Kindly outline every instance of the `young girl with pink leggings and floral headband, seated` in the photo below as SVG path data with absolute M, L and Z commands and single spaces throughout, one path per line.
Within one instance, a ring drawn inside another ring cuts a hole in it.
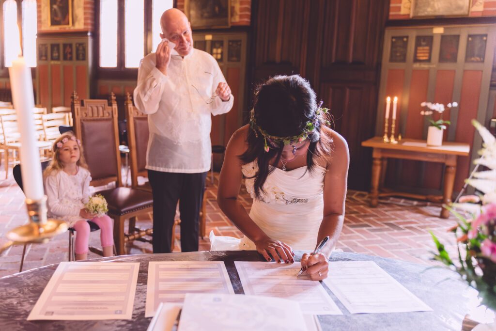
M 76 230 L 76 260 L 85 260 L 88 256 L 90 226 L 87 220 L 100 227 L 103 256 L 112 256 L 112 219 L 107 215 L 97 217 L 84 207 L 90 197 L 91 175 L 81 142 L 72 132 L 66 132 L 55 140 L 52 149 L 52 162 L 44 172 L 49 217 L 62 219 Z

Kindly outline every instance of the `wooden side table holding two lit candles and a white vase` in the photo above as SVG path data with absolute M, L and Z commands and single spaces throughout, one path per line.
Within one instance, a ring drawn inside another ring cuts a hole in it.
M 404 139 L 397 144 L 385 143 L 382 137 L 373 137 L 363 141 L 362 146 L 372 147 L 372 183 L 370 205 L 376 207 L 379 197 L 400 196 L 413 199 L 431 200 L 442 203 L 451 202 L 453 185 L 456 174 L 457 156 L 469 156 L 470 146 L 461 142 L 443 142 L 441 146 L 427 146 L 425 140 Z M 432 197 L 404 192 L 379 193 L 384 179 L 384 172 L 388 158 L 403 160 L 427 161 L 444 163 L 444 185 L 442 196 Z M 441 218 L 448 218 L 449 211 L 441 209 Z

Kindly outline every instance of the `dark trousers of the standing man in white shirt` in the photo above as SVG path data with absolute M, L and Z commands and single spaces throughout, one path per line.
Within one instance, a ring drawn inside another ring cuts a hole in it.
M 153 253 L 171 253 L 172 226 L 179 200 L 181 251 L 198 251 L 198 219 L 207 173 L 148 170 L 153 195 Z

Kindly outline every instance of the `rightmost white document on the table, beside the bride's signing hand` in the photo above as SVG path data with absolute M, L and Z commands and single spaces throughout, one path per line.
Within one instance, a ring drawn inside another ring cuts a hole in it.
M 324 283 L 352 314 L 432 311 L 373 261 L 330 262 Z

